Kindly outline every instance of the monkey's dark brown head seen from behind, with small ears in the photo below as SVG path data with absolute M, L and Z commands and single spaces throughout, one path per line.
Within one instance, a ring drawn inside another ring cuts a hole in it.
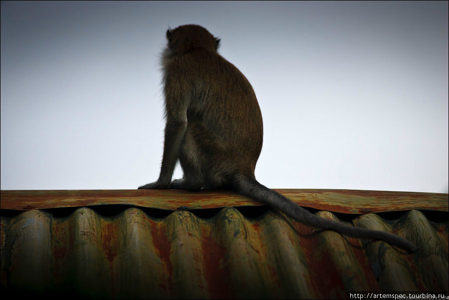
M 200 25 L 182 25 L 167 30 L 167 49 L 170 56 L 185 53 L 192 48 L 205 48 L 217 51 L 220 39 Z

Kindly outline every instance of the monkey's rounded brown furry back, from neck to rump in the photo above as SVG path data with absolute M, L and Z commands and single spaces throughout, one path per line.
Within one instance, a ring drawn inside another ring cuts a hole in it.
M 199 161 L 211 176 L 254 176 L 263 125 L 254 90 L 245 76 L 217 52 L 193 48 L 166 68 L 165 90 L 176 85 L 189 87 L 184 95 L 188 106 L 183 141 L 189 153 L 184 156 Z M 166 109 L 173 108 L 168 104 Z M 192 157 L 192 148 L 197 149 L 196 157 Z

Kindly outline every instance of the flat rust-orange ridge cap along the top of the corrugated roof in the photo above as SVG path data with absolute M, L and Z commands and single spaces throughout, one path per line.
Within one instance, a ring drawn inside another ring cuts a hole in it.
M 277 189 L 297 204 L 345 214 L 408 211 L 448 211 L 448 194 L 359 190 Z M 165 210 L 262 205 L 229 191 L 184 190 L 60 190 L 1 191 L 1 209 L 31 210 L 126 204 Z

